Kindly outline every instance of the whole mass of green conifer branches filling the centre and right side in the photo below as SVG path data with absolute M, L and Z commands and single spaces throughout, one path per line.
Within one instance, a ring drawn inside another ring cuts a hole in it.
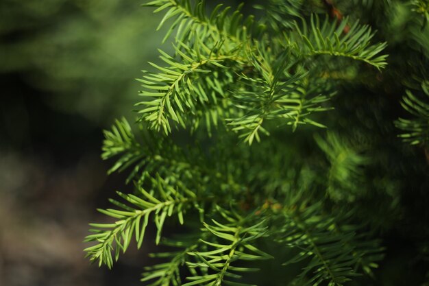
M 172 48 L 138 79 L 136 128 L 121 119 L 105 132 L 102 157 L 116 160 L 110 173 L 129 173 L 128 191 L 99 209 L 109 223 L 90 224 L 91 261 L 112 267 L 132 241 L 149 244 L 153 225 L 156 244 L 175 251 L 152 254 L 164 262 L 145 266 L 145 285 L 372 285 L 382 233 L 405 207 L 397 180 L 410 176 L 389 154 L 412 150 L 400 138 L 428 148 L 429 86 L 425 67 L 394 82 L 417 88 L 402 88 L 406 119 L 387 119 L 380 93 L 397 76 L 387 60 L 399 56 L 387 55 L 389 25 L 378 34 L 357 11 L 387 19 L 400 7 L 417 31 L 429 4 L 259 2 L 145 3 L 162 13 Z M 263 261 L 288 271 L 258 278 Z

